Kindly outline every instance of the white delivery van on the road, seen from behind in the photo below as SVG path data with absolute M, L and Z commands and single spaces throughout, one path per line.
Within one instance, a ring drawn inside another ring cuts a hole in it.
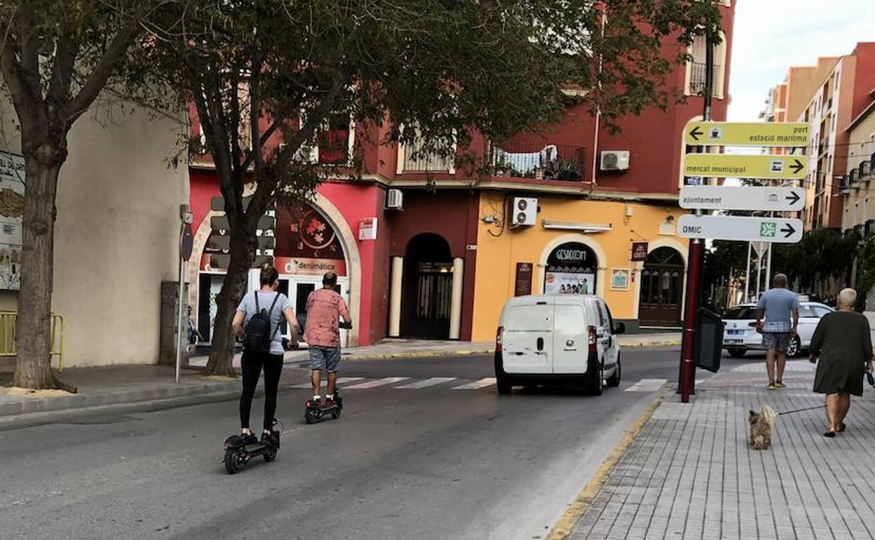
M 500 394 L 514 385 L 583 384 L 600 395 L 620 385 L 620 345 L 605 300 L 592 295 L 521 296 L 507 300 L 495 339 Z

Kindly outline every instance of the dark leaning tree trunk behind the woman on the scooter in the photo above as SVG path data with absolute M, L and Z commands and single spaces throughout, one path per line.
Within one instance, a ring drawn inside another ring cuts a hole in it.
M 230 221 L 230 220 L 229 220 Z M 234 347 L 235 338 L 231 328 L 237 305 L 240 304 L 246 291 L 246 280 L 249 268 L 255 261 L 257 239 L 255 228 L 249 231 L 243 220 L 231 224 L 231 263 L 228 273 L 221 284 L 221 291 L 216 296 L 216 319 L 213 326 L 213 340 L 210 348 L 210 360 L 207 362 L 208 375 L 235 375 Z

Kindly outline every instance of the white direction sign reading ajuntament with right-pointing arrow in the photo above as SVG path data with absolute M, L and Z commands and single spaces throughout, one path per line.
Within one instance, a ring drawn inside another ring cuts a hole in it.
M 805 207 L 801 187 L 683 186 L 681 207 L 690 210 L 772 210 L 799 212 Z

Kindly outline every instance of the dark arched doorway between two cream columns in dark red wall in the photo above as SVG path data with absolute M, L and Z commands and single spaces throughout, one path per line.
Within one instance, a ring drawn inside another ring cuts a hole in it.
M 452 254 L 441 235 L 410 239 L 404 256 L 401 333 L 405 337 L 450 337 Z

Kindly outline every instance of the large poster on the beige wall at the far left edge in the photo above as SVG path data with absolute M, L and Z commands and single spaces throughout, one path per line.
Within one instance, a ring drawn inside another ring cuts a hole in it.
M 21 284 L 21 218 L 25 212 L 25 157 L 0 151 L 0 289 Z

